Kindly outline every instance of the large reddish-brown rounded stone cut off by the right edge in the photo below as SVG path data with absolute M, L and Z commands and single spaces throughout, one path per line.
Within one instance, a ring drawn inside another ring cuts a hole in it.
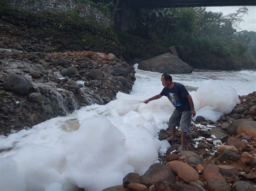
M 241 133 L 256 137 L 256 122 L 249 120 L 240 122 L 237 126 L 237 135 L 241 135 Z

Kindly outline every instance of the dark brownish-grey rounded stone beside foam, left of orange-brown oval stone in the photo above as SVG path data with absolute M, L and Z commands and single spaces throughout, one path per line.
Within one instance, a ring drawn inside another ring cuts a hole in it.
M 141 179 L 147 187 L 162 181 L 176 182 L 176 177 L 169 167 L 164 164 L 153 164 L 147 169 Z

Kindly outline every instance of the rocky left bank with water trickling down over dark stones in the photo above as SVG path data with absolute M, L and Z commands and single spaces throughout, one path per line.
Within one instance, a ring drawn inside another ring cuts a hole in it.
M 134 69 L 113 54 L 0 49 L 0 134 L 129 93 Z

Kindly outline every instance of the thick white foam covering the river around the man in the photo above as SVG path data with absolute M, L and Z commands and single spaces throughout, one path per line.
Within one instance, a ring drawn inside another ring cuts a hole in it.
M 211 120 L 233 109 L 237 92 L 255 90 L 252 71 L 172 76 L 199 87 L 191 92 L 197 114 Z M 169 147 L 157 132 L 167 129 L 174 108 L 166 97 L 143 103 L 160 93 L 161 74 L 136 70 L 136 77 L 130 95 L 0 136 L 0 190 L 101 190 L 121 185 L 129 172 L 142 175 Z

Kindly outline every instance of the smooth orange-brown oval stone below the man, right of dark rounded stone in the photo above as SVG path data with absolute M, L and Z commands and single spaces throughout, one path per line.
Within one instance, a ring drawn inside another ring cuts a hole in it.
M 173 172 L 177 173 L 179 178 L 186 183 L 199 179 L 199 174 L 196 169 L 192 168 L 188 164 L 185 164 L 184 162 L 174 160 L 168 162 L 167 166 L 169 166 Z

